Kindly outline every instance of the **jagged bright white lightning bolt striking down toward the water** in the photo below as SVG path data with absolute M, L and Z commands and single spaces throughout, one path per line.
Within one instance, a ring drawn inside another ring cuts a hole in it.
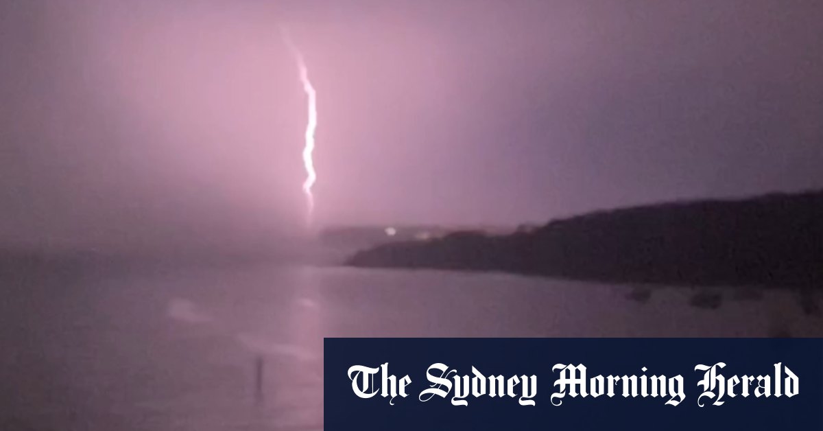
M 308 121 L 305 129 L 305 143 L 303 147 L 303 166 L 306 171 L 306 179 L 303 182 L 303 193 L 306 196 L 306 204 L 308 206 L 308 222 L 311 223 L 312 214 L 314 213 L 314 194 L 311 188 L 317 182 L 317 171 L 314 171 L 314 130 L 317 129 L 317 91 L 309 81 L 309 69 L 306 68 L 305 60 L 300 49 L 291 40 L 286 27 L 281 26 L 280 32 L 283 40 L 288 45 L 291 54 L 295 57 L 297 68 L 299 71 L 300 82 L 303 84 L 303 91 L 306 93 L 308 99 Z

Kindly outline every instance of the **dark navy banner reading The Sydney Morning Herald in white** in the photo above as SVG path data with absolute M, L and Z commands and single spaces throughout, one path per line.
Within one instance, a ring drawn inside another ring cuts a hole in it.
M 823 429 L 821 339 L 326 339 L 330 431 Z

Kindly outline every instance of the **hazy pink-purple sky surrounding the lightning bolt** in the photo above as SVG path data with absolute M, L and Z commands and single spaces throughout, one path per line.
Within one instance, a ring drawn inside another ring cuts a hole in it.
M 243 242 L 823 186 L 823 3 L 0 3 L 0 241 Z

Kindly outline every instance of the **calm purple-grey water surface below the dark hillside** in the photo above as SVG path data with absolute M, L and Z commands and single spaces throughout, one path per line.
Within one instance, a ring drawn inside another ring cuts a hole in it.
M 324 336 L 823 335 L 787 291 L 705 309 L 689 288 L 644 302 L 625 286 L 299 265 L 2 283 L 3 430 L 323 429 Z

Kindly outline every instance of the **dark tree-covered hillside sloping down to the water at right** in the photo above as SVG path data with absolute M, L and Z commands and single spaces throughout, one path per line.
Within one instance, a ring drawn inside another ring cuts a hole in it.
M 348 263 L 620 283 L 821 286 L 823 192 L 621 208 L 506 236 L 458 232 L 376 246 Z

